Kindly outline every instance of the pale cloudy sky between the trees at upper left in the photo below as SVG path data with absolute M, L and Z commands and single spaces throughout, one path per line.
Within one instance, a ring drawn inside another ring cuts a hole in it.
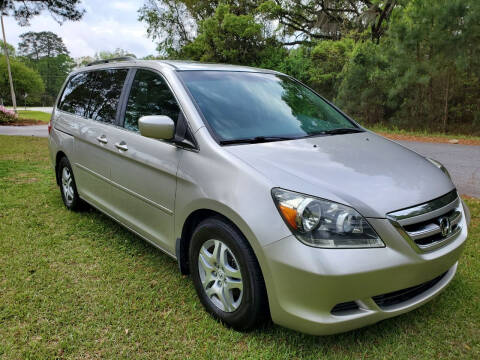
M 20 34 L 27 31 L 52 31 L 59 35 L 70 56 L 93 56 L 102 50 L 121 48 L 143 57 L 156 54 L 155 44 L 146 36 L 146 25 L 137 20 L 143 0 L 83 0 L 86 10 L 80 21 L 59 25 L 48 12 L 20 26 L 15 19 L 4 17 L 7 42 L 17 48 Z

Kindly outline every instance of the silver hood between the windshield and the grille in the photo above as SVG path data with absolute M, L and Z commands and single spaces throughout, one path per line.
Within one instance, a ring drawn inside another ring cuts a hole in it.
M 424 157 L 370 132 L 224 149 L 274 186 L 349 205 L 366 217 L 384 218 L 455 188 Z

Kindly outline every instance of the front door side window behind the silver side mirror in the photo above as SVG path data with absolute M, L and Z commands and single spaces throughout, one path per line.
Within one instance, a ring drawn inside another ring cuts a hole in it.
M 138 131 L 138 119 L 145 115 L 167 115 L 176 123 L 180 108 L 165 80 L 148 70 L 137 70 L 125 110 L 124 128 Z

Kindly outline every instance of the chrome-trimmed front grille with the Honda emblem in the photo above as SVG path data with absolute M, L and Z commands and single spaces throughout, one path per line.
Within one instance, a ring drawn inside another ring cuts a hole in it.
M 422 251 L 447 244 L 462 230 L 461 202 L 455 190 L 427 203 L 391 212 L 387 217 Z

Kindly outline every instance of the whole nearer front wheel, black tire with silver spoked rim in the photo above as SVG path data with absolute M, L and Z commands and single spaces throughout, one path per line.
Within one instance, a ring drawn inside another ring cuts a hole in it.
M 202 221 L 192 234 L 189 263 L 198 297 L 215 319 L 247 331 L 270 318 L 260 266 L 234 226 L 216 217 Z

